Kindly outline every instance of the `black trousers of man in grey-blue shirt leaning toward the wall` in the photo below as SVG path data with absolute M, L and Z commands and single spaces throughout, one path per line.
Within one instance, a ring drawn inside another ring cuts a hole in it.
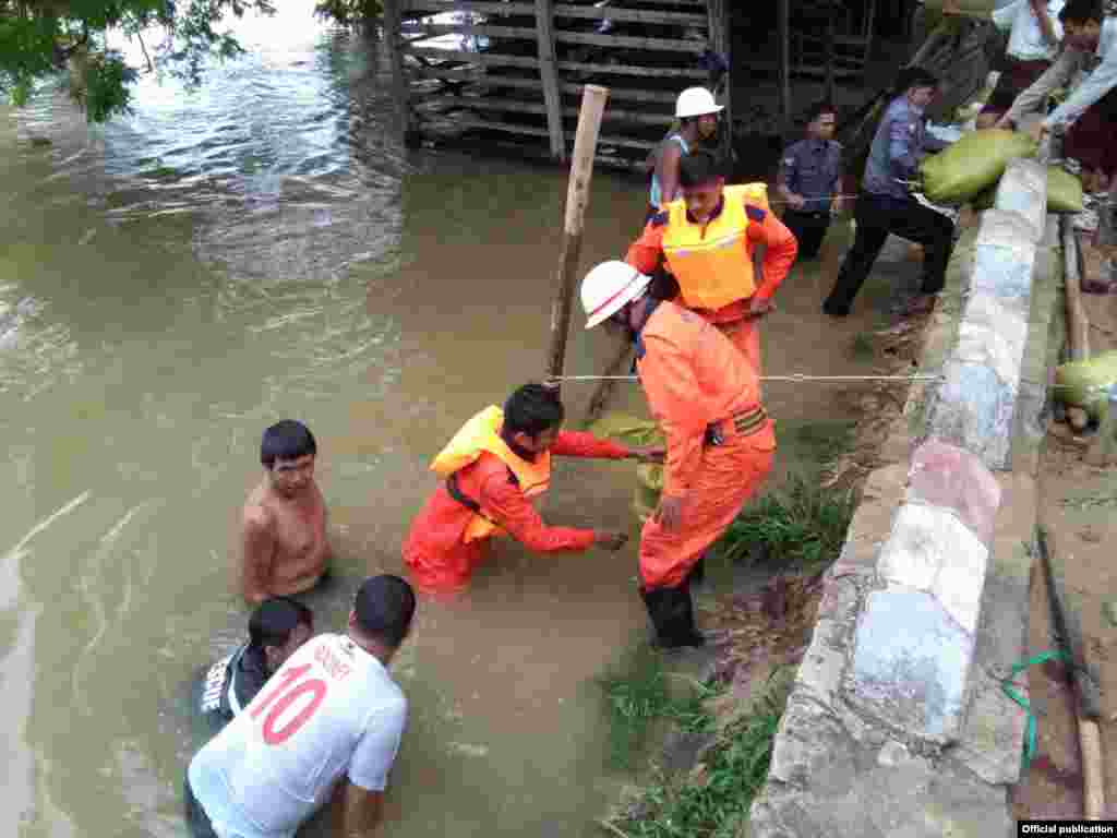
M 946 282 L 946 266 L 954 249 L 954 222 L 946 216 L 924 207 L 914 198 L 861 192 L 853 209 L 857 236 L 846 254 L 838 280 L 827 297 L 824 308 L 847 314 L 861 289 L 888 234 L 923 245 L 924 294 L 937 294 Z

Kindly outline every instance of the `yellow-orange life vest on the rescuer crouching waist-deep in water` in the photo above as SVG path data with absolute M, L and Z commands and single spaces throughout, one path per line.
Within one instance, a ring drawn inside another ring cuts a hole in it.
M 481 451 L 488 451 L 496 456 L 508 467 L 508 470 L 515 475 L 519 483 L 519 491 L 524 493 L 525 497 L 537 498 L 551 486 L 551 453 L 540 454 L 534 463 L 517 456 L 508 447 L 508 444 L 500 439 L 503 427 L 504 411 L 495 406 L 485 408 L 461 426 L 461 429 L 454 435 L 446 448 L 430 464 L 432 472 L 439 477 L 447 478 L 447 488 L 450 495 L 474 511 L 474 516 L 466 526 L 465 542 L 467 544 L 478 539 L 504 534 L 504 531 L 494 521 L 485 516 L 477 501 L 461 496 L 454 478 L 454 475 L 459 470 L 470 463 L 476 463 L 477 458 L 481 456 Z

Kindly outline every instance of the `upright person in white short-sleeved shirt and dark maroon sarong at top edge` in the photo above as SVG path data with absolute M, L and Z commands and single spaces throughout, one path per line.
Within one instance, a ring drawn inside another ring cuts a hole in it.
M 1051 66 L 1062 40 L 1059 12 L 1065 0 L 1012 0 L 995 9 L 993 23 L 1009 32 L 1008 63 L 977 116 L 978 128 L 991 128 L 1022 91 Z

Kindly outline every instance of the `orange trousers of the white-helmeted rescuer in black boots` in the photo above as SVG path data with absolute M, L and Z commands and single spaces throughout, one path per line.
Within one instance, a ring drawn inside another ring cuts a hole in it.
M 682 503 L 682 518 L 667 532 L 649 517 L 640 534 L 640 581 L 645 588 L 677 588 L 703 552 L 737 517 L 768 472 L 775 454 L 771 421 L 751 436 L 733 436 L 703 448 L 701 469 Z

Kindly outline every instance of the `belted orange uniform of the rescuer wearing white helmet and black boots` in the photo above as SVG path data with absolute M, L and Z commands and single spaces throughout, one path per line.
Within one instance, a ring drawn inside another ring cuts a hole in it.
M 645 523 L 640 578 L 647 589 L 677 588 L 772 469 L 775 431 L 760 411 L 752 363 L 707 320 L 675 303 L 658 303 L 640 330 L 637 370 L 667 436 L 662 494 L 682 498 L 675 532 L 651 517 Z M 755 427 L 736 431 L 733 417 L 758 411 Z M 720 445 L 707 442 L 714 422 Z

